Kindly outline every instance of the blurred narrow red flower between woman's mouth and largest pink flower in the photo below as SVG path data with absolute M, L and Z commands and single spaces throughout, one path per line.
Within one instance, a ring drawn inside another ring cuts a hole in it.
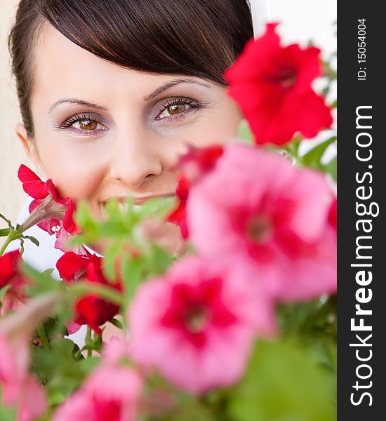
M 212 145 L 204 148 L 189 146 L 189 152 L 181 156 L 177 168 L 181 173 L 178 175 L 175 196 L 178 197 L 178 206 L 168 215 L 167 221 L 178 225 L 182 238 L 187 239 L 186 206 L 190 186 L 203 175 L 212 171 L 224 149 L 220 145 Z

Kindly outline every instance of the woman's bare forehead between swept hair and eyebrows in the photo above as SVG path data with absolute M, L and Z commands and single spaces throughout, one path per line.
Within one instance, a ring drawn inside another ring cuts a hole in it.
M 171 76 L 167 74 L 125 69 L 102 60 L 46 24 L 34 52 L 32 107 L 36 102 L 52 104 L 63 97 L 81 96 L 104 103 L 125 95 L 139 99 L 168 79 Z

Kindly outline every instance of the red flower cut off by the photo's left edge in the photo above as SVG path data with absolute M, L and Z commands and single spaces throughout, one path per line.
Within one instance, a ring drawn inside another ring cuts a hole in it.
M 0 289 L 8 286 L 3 301 L 1 302 L 0 315 L 9 310 L 18 309 L 25 302 L 27 295 L 25 286 L 27 279 L 20 274 L 18 265 L 21 261 L 19 250 L 13 250 L 0 256 Z

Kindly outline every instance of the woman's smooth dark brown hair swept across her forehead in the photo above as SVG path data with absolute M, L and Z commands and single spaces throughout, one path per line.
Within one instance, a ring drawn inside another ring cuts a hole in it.
M 21 0 L 9 49 L 29 137 L 34 41 L 46 22 L 121 67 L 199 76 L 222 86 L 223 72 L 253 36 L 246 0 Z

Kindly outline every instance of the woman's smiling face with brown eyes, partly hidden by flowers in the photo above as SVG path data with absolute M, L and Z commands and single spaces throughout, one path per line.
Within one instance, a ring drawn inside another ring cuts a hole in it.
M 29 145 L 61 196 L 86 199 L 95 218 L 109 199 L 171 195 L 187 145 L 224 143 L 241 112 L 222 88 L 191 76 L 147 74 L 106 62 L 46 25 L 34 55 Z

